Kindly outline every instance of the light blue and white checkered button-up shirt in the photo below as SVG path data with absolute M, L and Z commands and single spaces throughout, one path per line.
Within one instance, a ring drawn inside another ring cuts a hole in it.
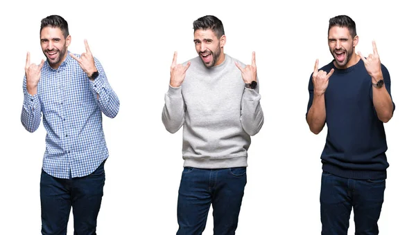
M 87 176 L 108 157 L 101 112 L 114 118 L 120 102 L 100 62 L 94 61 L 99 73 L 94 82 L 69 52 L 57 69 L 45 62 L 36 95 L 28 93 L 24 77 L 21 123 L 34 132 L 43 113 L 46 150 L 42 168 L 51 176 Z

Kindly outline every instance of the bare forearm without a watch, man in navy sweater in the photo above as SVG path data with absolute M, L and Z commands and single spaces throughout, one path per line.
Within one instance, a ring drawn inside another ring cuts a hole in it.
M 318 135 L 324 128 L 325 120 L 327 119 L 327 111 L 325 110 L 325 95 L 313 95 L 313 102 L 308 111 L 306 122 L 308 122 L 309 129 Z

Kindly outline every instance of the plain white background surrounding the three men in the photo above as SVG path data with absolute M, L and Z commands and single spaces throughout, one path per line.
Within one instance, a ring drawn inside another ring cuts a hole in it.
M 173 52 L 196 56 L 192 22 L 223 21 L 225 53 L 249 64 L 256 51 L 265 122 L 252 138 L 248 184 L 237 234 L 320 234 L 320 153 L 325 128 L 306 124 L 308 82 L 315 59 L 331 61 L 329 18 L 356 21 L 356 50 L 372 53 L 390 71 L 395 115 L 385 124 L 388 168 L 380 234 L 413 234 L 416 210 L 413 8 L 402 1 L 7 1 L 0 6 L 0 234 L 40 234 L 40 173 L 46 132 L 20 123 L 26 51 L 39 63 L 40 21 L 61 15 L 73 53 L 92 53 L 119 96 L 119 115 L 104 118 L 110 158 L 97 233 L 175 234 L 182 172 L 182 129 L 162 124 Z M 353 214 L 352 214 L 353 218 Z M 72 216 L 68 233 L 73 233 Z M 211 212 L 204 234 L 212 234 Z M 354 234 L 351 220 L 349 234 Z

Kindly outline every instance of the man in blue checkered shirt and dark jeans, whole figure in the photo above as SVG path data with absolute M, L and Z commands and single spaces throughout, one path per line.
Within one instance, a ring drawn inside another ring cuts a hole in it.
M 108 157 L 102 113 L 114 118 L 119 98 L 85 40 L 85 53 L 69 52 L 68 23 L 42 19 L 40 46 L 46 56 L 31 64 L 27 53 L 21 123 L 29 132 L 46 129 L 40 179 L 42 234 L 67 234 L 71 207 L 75 234 L 96 234 Z

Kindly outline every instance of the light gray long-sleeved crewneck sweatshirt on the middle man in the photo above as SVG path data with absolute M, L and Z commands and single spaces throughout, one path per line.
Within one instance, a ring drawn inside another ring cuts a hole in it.
M 195 57 L 182 86 L 169 86 L 165 94 L 162 122 L 166 130 L 175 133 L 184 126 L 184 167 L 247 167 L 250 135 L 260 131 L 263 111 L 259 86 L 245 88 L 236 61 L 225 55 L 222 64 L 206 68 Z

